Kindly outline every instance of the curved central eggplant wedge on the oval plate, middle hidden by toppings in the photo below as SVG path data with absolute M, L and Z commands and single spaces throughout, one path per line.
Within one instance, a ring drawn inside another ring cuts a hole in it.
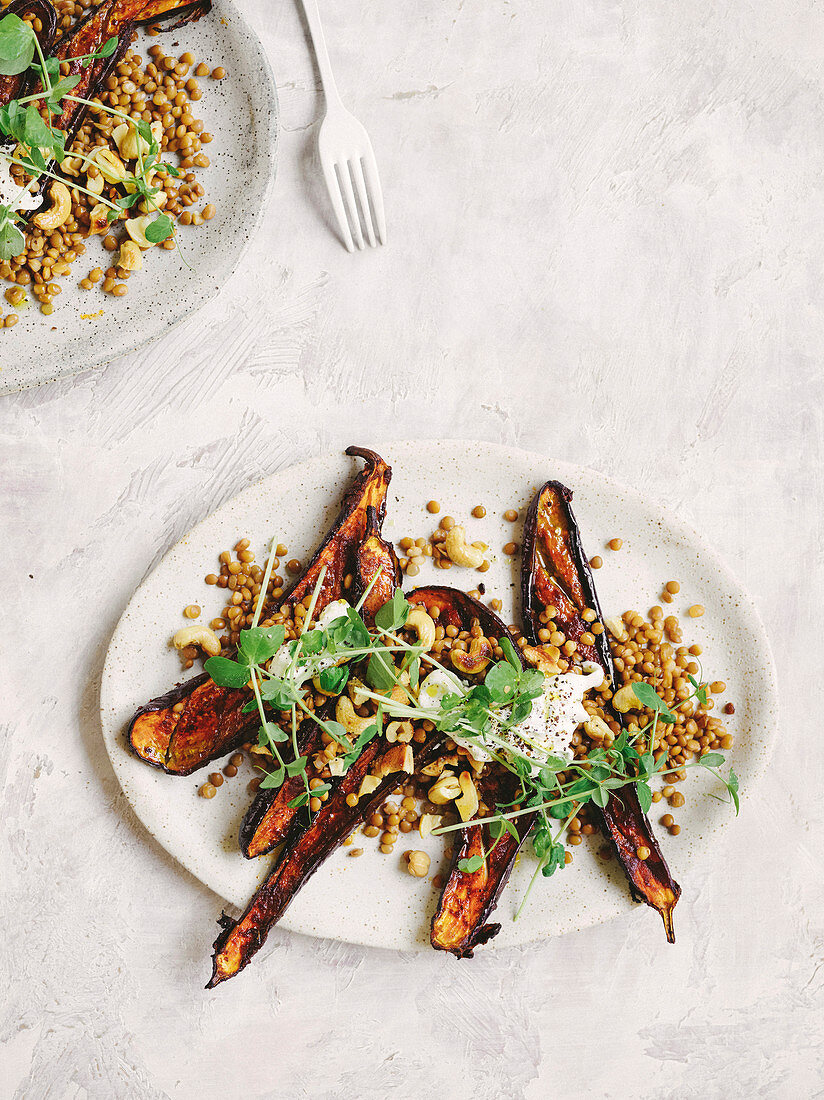
M 407 596 L 410 604 L 426 607 L 430 613 L 438 608 L 438 623 L 469 630 L 477 619 L 487 638 L 512 638 L 506 625 L 483 604 L 457 588 L 432 585 L 417 588 Z M 515 646 L 515 651 L 524 659 Z M 482 801 L 487 805 L 510 802 L 518 790 L 516 778 L 504 768 L 493 767 L 481 781 Z M 487 919 L 497 904 L 506 886 L 520 846 L 529 833 L 532 815 L 517 820 L 518 840 L 504 834 L 476 871 L 462 871 L 459 862 L 492 848 L 488 827 L 474 825 L 461 829 L 455 840 L 452 866 L 441 891 L 430 930 L 430 943 L 437 950 L 449 952 L 458 958 L 472 958 L 474 948 L 485 944 L 501 931 L 499 924 Z

